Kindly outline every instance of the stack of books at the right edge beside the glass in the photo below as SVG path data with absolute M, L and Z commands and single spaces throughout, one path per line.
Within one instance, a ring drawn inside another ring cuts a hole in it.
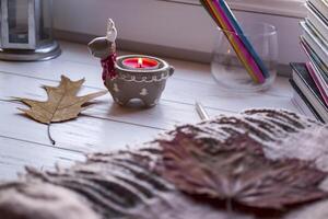
M 308 116 L 328 123 L 328 0 L 308 0 L 301 22 L 306 64 L 291 64 L 293 102 Z

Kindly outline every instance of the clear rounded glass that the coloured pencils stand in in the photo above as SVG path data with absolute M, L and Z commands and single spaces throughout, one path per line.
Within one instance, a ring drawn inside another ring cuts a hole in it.
M 230 38 L 242 38 L 234 32 L 218 28 L 212 53 L 211 72 L 223 90 L 234 92 L 254 92 L 270 88 L 277 76 L 278 38 L 273 25 L 262 22 L 241 23 L 244 36 L 253 45 L 255 53 L 267 69 L 267 78 L 262 83 L 255 82 L 238 56 Z

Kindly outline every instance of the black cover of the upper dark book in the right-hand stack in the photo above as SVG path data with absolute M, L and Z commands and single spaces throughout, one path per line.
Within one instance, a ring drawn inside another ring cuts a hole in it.
M 307 71 L 305 64 L 291 62 L 291 67 L 295 71 L 295 73 L 297 73 L 297 76 L 302 79 L 303 83 L 307 87 L 309 92 L 314 94 L 318 103 L 325 108 L 326 112 L 328 112 L 327 105 L 325 104 L 318 88 L 316 87 L 314 80 Z

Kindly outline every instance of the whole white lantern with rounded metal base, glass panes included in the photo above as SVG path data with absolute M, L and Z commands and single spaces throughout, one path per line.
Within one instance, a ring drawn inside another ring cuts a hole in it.
M 0 0 L 0 59 L 47 60 L 60 55 L 51 0 Z

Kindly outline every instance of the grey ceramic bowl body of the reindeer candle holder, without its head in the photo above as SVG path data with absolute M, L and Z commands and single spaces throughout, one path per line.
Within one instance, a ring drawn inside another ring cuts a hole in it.
M 155 60 L 157 65 L 142 68 L 125 64 L 125 60 L 133 58 Z M 126 105 L 130 100 L 139 99 L 147 107 L 152 107 L 157 104 L 174 68 L 160 58 L 128 55 L 117 57 L 115 72 L 116 77 L 106 78 L 105 85 L 116 103 Z

